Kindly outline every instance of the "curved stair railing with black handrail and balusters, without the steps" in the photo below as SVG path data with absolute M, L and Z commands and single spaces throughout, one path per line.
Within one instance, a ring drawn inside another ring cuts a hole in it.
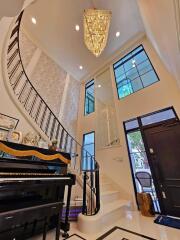
M 58 140 L 61 151 L 70 153 L 69 170 L 76 174 L 83 188 L 83 210 L 86 216 L 95 215 L 100 209 L 99 165 L 91 154 L 79 144 L 60 123 L 48 104 L 29 80 L 21 59 L 19 33 L 23 12 L 14 20 L 5 47 L 5 84 L 13 102 L 33 125 L 40 136 L 50 142 Z M 90 162 L 88 171 L 82 170 L 81 159 Z

